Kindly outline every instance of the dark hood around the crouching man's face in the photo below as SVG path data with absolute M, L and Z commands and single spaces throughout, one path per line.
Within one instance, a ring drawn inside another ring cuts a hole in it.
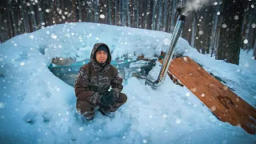
M 98 64 L 96 57 L 95 57 L 95 52 L 99 46 L 106 46 L 106 48 L 107 48 L 108 54 L 107 54 L 107 59 L 106 59 L 106 65 L 104 67 L 109 67 L 110 61 L 111 61 L 111 54 L 110 54 L 109 46 L 107 46 L 105 43 L 96 43 L 94 45 L 94 48 L 93 48 L 93 50 L 91 50 L 91 54 L 90 54 L 90 62 L 93 64 L 94 68 L 101 69 L 102 66 L 100 66 Z

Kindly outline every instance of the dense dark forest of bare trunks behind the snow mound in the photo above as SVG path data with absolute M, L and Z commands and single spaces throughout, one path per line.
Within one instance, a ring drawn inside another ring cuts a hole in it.
M 254 0 L 2 0 L 0 42 L 66 22 L 96 22 L 172 33 L 183 9 L 182 30 L 202 54 L 238 64 L 240 49 L 254 50 Z

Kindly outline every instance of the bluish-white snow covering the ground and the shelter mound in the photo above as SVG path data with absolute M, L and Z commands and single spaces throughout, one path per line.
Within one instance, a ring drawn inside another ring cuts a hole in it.
M 166 78 L 157 90 L 145 80 L 129 78 L 122 90 L 128 101 L 114 118 L 97 113 L 82 124 L 75 110 L 74 88 L 47 66 L 55 57 L 90 58 L 96 42 L 110 46 L 112 58 L 146 57 L 165 51 L 170 34 L 107 26 L 69 23 L 22 34 L 0 45 L 0 140 L 2 143 L 254 143 L 255 135 L 220 122 L 185 86 Z M 241 51 L 240 65 L 215 60 L 179 38 L 176 52 L 190 56 L 222 78 L 256 107 L 256 61 Z M 150 76 L 158 78 L 157 63 Z

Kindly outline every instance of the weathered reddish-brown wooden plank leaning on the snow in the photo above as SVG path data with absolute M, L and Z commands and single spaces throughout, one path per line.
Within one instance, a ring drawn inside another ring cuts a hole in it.
M 159 62 L 162 63 L 162 60 Z M 230 122 L 233 126 L 241 126 L 249 134 L 255 134 L 254 107 L 234 94 L 191 58 L 174 58 L 168 70 L 222 122 Z

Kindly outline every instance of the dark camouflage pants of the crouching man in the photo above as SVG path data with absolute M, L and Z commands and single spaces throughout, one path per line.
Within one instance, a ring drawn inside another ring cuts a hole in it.
M 126 94 L 120 93 L 119 98 L 115 100 L 115 102 L 110 106 L 103 106 L 100 103 L 100 99 L 102 95 L 91 96 L 86 99 L 78 99 L 77 100 L 77 110 L 80 114 L 82 114 L 87 120 L 92 120 L 95 114 L 96 106 L 100 106 L 98 109 L 107 112 L 114 112 L 118 110 L 120 106 L 122 106 L 127 101 Z

